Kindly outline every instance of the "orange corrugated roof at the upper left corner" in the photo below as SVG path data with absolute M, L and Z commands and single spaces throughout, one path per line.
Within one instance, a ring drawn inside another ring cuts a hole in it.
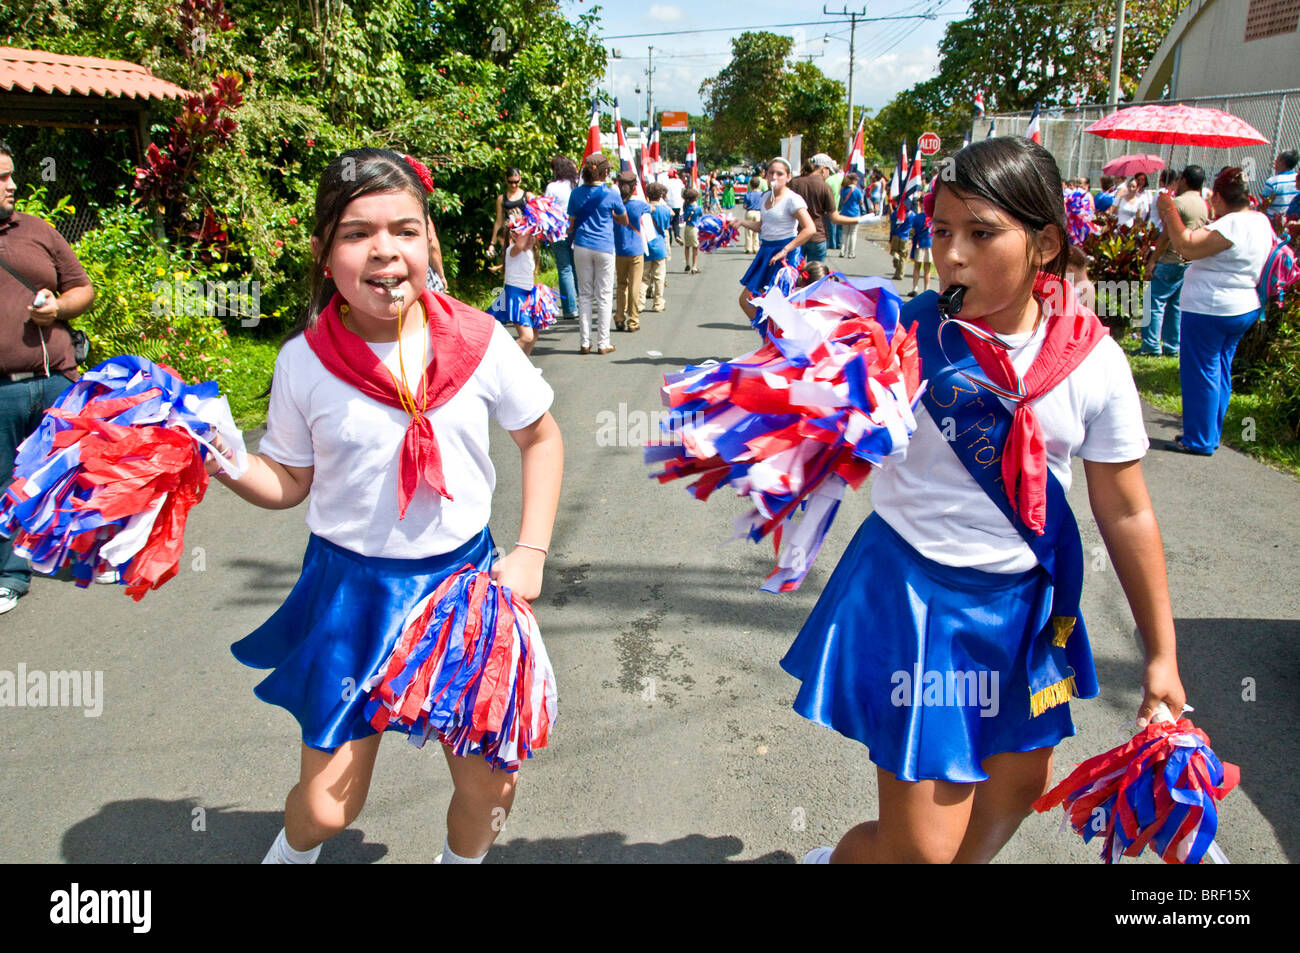
M 135 62 L 60 56 L 16 47 L 0 47 L 0 90 L 127 99 L 181 99 L 191 95 Z

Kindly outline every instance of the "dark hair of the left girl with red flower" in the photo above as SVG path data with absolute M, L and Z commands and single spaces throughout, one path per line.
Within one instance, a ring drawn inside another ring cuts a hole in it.
M 289 333 L 292 338 L 312 325 L 338 291 L 333 278 L 325 277 L 325 260 L 334 247 L 334 233 L 343 211 L 355 199 L 376 192 L 408 192 L 429 218 L 429 196 L 424 183 L 407 161 L 387 150 L 348 150 L 325 166 L 316 186 L 316 224 L 312 238 L 320 241 L 320 255 L 312 263 L 311 294 L 307 308 Z M 286 338 L 286 341 L 289 339 Z

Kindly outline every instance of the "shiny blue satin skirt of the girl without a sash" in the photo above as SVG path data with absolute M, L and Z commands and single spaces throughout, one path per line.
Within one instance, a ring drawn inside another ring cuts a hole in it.
M 251 668 L 273 668 L 254 693 L 298 719 L 304 745 L 333 751 L 376 733 L 360 685 L 393 651 L 415 605 L 467 563 L 490 568 L 491 553 L 486 527 L 426 559 L 363 556 L 313 533 L 285 605 L 230 651 Z

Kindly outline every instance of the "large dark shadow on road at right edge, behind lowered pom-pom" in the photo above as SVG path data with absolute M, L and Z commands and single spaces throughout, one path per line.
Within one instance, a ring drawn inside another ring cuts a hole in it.
M 1300 813 L 1292 784 L 1300 762 L 1300 620 L 1295 619 L 1175 619 L 1178 671 L 1188 703 L 1188 716 L 1204 731 L 1221 761 L 1242 768 L 1240 789 L 1273 827 L 1287 862 L 1300 859 Z M 1136 634 L 1135 634 L 1136 641 Z M 1135 716 L 1131 705 L 1108 686 L 1141 684 L 1140 647 L 1131 660 L 1097 659 L 1102 701 L 1121 720 Z M 1119 744 L 1118 736 L 1114 744 Z M 1097 751 L 1100 754 L 1100 751 Z M 1235 793 L 1221 805 L 1231 813 Z M 1223 849 L 1228 859 L 1232 844 Z

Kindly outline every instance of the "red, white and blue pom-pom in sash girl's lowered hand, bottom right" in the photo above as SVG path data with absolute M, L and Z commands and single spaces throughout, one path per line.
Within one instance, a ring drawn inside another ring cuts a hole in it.
M 1166 863 L 1227 863 L 1214 842 L 1216 801 L 1238 785 L 1236 764 L 1219 762 L 1210 740 L 1190 719 L 1174 720 L 1161 703 L 1147 727 L 1096 758 L 1034 802 L 1057 805 L 1084 842 L 1101 836 L 1101 859 L 1115 863 L 1148 846 Z

